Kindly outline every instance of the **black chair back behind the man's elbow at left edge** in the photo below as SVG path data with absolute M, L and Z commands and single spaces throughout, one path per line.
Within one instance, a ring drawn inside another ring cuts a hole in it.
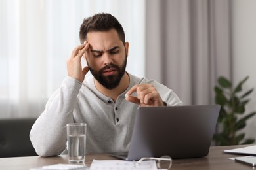
M 35 120 L 35 118 L 0 119 L 0 158 L 37 155 L 29 137 Z

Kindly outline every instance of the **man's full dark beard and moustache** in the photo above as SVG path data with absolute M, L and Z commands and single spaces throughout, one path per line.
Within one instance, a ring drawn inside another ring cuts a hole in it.
M 91 71 L 91 74 L 95 77 L 95 79 L 100 84 L 102 84 L 102 86 L 104 86 L 104 88 L 112 90 L 120 84 L 121 78 L 125 74 L 126 63 L 127 63 L 127 57 L 125 56 L 125 61 L 123 62 L 123 65 L 121 65 L 121 67 L 118 67 L 117 65 L 114 65 L 114 64 L 109 64 L 103 67 L 102 69 L 100 69 L 100 71 L 95 71 L 95 69 L 90 67 L 89 64 L 88 64 L 88 67 Z M 103 75 L 104 70 L 111 69 L 111 68 L 116 69 L 117 74 L 104 76 Z

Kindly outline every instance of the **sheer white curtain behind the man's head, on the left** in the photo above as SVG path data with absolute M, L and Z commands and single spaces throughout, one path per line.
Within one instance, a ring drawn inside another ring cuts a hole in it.
M 144 76 L 144 1 L 0 0 L 0 118 L 37 117 L 66 74 L 83 18 L 109 12 L 130 43 L 127 71 Z

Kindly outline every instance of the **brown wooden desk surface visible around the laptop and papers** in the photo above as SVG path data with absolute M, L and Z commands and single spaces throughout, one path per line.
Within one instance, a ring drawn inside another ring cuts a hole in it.
M 236 157 L 234 154 L 224 154 L 222 151 L 232 148 L 242 148 L 244 146 L 213 146 L 209 150 L 208 156 L 203 158 L 189 158 L 173 160 L 171 169 L 252 169 L 248 165 L 236 163 L 228 158 Z M 116 158 L 108 154 L 87 154 L 86 165 L 90 165 L 95 160 L 116 160 Z M 68 163 L 68 157 L 54 156 L 43 158 L 40 156 L 0 158 L 0 169 L 11 170 L 28 170 L 32 167 L 42 167 L 44 165 L 52 165 L 56 163 Z

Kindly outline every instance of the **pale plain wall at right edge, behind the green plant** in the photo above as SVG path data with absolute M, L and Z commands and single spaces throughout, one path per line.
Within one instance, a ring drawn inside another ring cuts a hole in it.
M 254 88 L 250 95 L 251 101 L 247 105 L 246 113 L 256 111 L 256 1 L 232 1 L 232 56 L 233 80 L 238 83 L 249 75 L 244 84 L 244 90 Z M 246 137 L 256 139 L 256 116 L 247 122 Z

